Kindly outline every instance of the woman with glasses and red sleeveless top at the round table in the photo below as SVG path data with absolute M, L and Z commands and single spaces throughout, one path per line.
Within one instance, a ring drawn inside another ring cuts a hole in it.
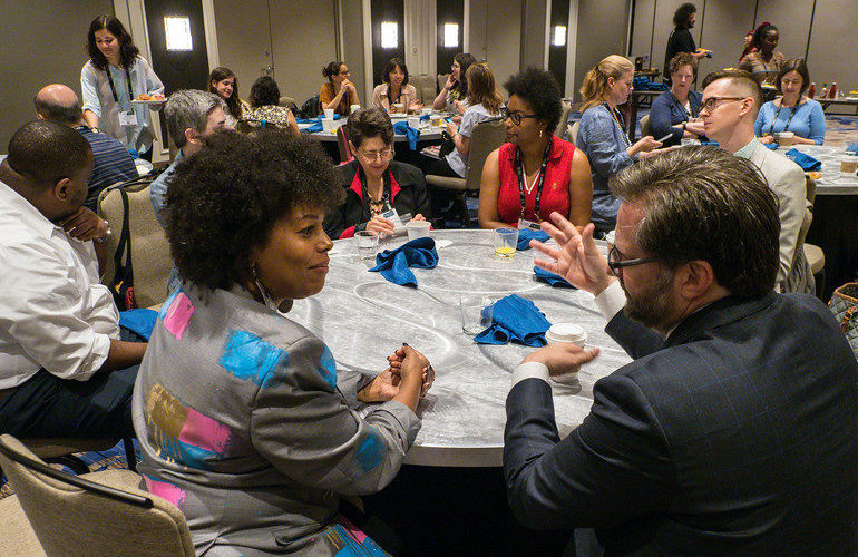
M 589 222 L 593 178 L 587 156 L 554 130 L 563 116 L 560 86 L 550 72 L 527 68 L 504 84 L 507 143 L 482 166 L 479 225 L 519 227 L 557 212 L 576 226 Z M 519 174 L 520 168 L 520 174 Z

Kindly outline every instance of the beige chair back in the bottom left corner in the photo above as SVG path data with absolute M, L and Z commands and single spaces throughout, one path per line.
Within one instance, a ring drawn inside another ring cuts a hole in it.
M 0 466 L 48 555 L 195 555 L 184 515 L 157 496 L 50 468 L 9 434 Z

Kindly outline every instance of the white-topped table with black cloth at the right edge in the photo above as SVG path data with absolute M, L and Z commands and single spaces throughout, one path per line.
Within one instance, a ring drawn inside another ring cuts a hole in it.
M 822 162 L 807 242 L 826 254 L 825 280 L 817 285 L 817 294 L 827 302 L 836 287 L 858 276 L 858 176 L 840 174 L 845 147 L 794 147 Z M 778 152 L 786 154 L 791 148 L 779 147 Z

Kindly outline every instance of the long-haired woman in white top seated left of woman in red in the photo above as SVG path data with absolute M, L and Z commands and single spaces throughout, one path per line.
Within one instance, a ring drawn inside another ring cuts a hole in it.
M 452 138 L 455 148 L 443 158 L 423 155 L 420 166 L 426 174 L 464 178 L 468 173 L 468 153 L 474 126 L 500 116 L 503 99 L 488 65 L 472 63 L 465 74 L 465 81 L 468 84 L 468 108 L 461 117 L 461 125 L 447 123 L 447 133 Z

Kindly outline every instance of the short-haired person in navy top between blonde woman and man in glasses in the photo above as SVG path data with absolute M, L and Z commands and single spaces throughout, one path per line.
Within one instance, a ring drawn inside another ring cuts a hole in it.
M 698 61 L 688 52 L 674 56 L 667 66 L 671 89 L 659 95 L 650 108 L 650 130 L 653 137 L 664 137 L 665 147 L 680 145 L 682 139 L 700 139 L 705 136 L 700 120 L 700 98 L 691 86 L 698 77 Z

